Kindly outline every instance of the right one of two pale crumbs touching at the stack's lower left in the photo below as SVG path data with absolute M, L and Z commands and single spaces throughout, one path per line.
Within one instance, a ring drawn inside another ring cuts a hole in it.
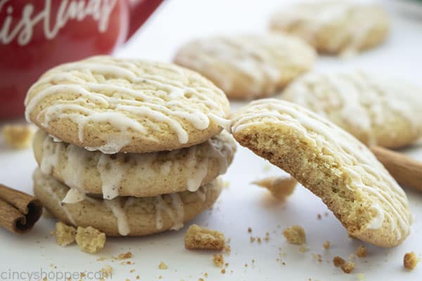
M 81 251 L 96 254 L 101 251 L 104 244 L 106 244 L 106 234 L 91 226 L 88 226 L 87 228 L 78 226 L 75 240 Z

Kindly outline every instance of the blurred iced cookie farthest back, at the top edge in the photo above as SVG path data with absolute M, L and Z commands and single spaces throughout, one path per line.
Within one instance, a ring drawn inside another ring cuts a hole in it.
M 270 27 L 302 37 L 321 53 L 347 55 L 381 44 L 388 35 L 389 20 L 378 6 L 316 1 L 275 13 Z

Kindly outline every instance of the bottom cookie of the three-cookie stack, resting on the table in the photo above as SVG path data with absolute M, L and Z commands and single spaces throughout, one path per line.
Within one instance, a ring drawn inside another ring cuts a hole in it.
M 214 204 L 222 190 L 222 181 L 217 178 L 196 192 L 113 200 L 87 197 L 75 204 L 62 204 L 68 190 L 39 169 L 34 172 L 35 196 L 60 221 L 73 226 L 92 226 L 108 236 L 141 236 L 182 228 Z

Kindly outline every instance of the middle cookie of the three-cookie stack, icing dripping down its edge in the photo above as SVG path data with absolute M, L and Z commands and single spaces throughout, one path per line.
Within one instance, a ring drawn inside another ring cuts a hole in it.
M 33 148 L 44 174 L 51 174 L 70 188 L 103 194 L 111 200 L 117 196 L 148 197 L 196 191 L 226 172 L 236 152 L 236 143 L 223 131 L 191 148 L 106 155 L 54 142 L 39 130 Z

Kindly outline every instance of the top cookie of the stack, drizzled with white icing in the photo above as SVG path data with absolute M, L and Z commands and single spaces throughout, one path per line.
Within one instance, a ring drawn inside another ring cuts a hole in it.
M 200 74 L 169 63 L 98 56 L 49 70 L 31 87 L 26 117 L 87 150 L 186 148 L 226 125 L 229 101 Z

